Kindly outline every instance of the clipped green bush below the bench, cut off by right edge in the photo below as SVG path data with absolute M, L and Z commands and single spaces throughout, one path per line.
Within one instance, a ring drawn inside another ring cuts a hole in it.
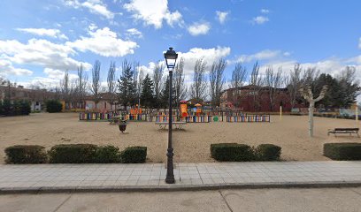
M 336 161 L 361 160 L 361 143 L 326 143 L 324 155 Z

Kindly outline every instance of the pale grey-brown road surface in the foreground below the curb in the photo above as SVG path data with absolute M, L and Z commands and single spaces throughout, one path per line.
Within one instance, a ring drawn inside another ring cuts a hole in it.
M 361 187 L 0 195 L 0 211 L 361 211 Z

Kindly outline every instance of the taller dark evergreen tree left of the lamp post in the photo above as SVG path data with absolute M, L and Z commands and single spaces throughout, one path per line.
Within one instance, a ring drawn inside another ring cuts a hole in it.
M 132 69 L 132 64 L 125 60 L 122 64 L 120 79 L 118 79 L 119 102 L 123 103 L 125 109 L 127 109 L 127 105 L 133 105 L 135 102 L 134 85 L 134 70 Z

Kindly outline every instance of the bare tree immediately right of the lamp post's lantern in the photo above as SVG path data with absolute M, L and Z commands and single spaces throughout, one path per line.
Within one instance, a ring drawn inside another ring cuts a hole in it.
M 187 95 L 187 87 L 184 84 L 184 58 L 180 58 L 180 62 L 175 65 L 174 69 L 174 94 L 175 94 L 175 102 L 179 105 L 180 101 L 186 98 Z

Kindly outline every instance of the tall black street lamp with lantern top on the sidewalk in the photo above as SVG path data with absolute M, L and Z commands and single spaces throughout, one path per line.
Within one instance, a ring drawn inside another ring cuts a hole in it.
M 165 64 L 169 71 L 169 125 L 168 125 L 168 148 L 167 148 L 167 162 L 166 162 L 166 178 L 165 183 L 173 184 L 173 146 L 172 146 L 172 83 L 173 83 L 173 69 L 177 61 L 178 54 L 175 53 L 172 47 L 165 52 Z

